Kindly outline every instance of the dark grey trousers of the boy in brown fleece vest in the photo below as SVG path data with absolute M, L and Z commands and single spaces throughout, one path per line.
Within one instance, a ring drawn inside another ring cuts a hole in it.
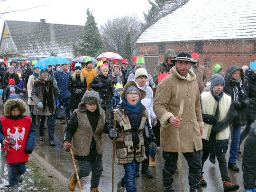
M 91 173 L 91 188 L 98 187 L 103 171 L 102 156 L 93 160 L 77 160 L 77 162 L 79 178 L 86 177 Z M 75 173 L 74 177 L 76 178 Z

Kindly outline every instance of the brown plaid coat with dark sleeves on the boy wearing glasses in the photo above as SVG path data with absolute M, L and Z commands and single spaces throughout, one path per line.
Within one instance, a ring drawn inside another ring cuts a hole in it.
M 143 161 L 145 156 L 144 138 L 147 129 L 148 142 L 155 142 L 155 134 L 148 122 L 148 113 L 144 105 L 141 104 L 138 113 L 129 111 L 121 103 L 114 109 L 117 115 L 116 128 L 119 130 L 116 139 L 116 158 L 118 164 L 126 164 L 135 159 L 137 162 Z M 128 117 L 128 118 L 127 118 Z M 141 125 L 143 123 L 143 125 Z M 130 126 L 130 130 L 128 129 Z M 114 127 L 114 113 L 111 115 L 109 132 Z M 132 138 L 131 138 L 132 137 Z M 137 150 L 134 150 L 137 149 Z

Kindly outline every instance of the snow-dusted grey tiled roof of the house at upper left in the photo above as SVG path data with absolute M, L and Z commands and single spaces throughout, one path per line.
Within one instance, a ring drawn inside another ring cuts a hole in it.
M 48 57 L 51 52 L 73 58 L 73 44 L 78 43 L 84 26 L 5 21 L 18 52 L 23 56 Z

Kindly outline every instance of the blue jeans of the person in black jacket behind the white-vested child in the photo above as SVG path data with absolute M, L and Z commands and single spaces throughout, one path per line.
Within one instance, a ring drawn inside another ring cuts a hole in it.
M 241 134 L 241 125 L 232 124 L 231 144 L 230 144 L 230 150 L 229 150 L 229 163 L 236 163 L 238 159 L 240 134 Z

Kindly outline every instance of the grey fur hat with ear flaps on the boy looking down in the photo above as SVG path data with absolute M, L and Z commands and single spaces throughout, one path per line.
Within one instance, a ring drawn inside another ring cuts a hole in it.
M 95 92 L 93 90 L 85 92 L 84 95 L 82 96 L 82 100 L 79 103 L 77 109 L 82 111 L 82 112 L 86 111 L 87 108 L 84 105 L 85 103 L 97 103 L 98 104 L 97 110 L 99 110 L 99 112 L 101 114 L 101 112 L 102 112 L 102 109 L 101 109 L 101 98 L 100 98 L 100 95 L 99 95 L 98 92 Z

